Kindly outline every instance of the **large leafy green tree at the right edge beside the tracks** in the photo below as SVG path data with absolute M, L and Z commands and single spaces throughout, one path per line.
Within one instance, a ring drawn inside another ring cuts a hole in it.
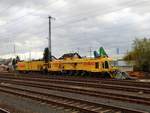
M 150 72 L 150 39 L 135 39 L 132 51 L 124 57 L 126 61 L 135 61 L 135 68 Z

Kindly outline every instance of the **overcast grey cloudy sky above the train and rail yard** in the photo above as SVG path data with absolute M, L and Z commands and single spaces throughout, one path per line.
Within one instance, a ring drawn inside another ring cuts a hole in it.
M 52 20 L 52 53 L 80 50 L 89 55 L 103 46 L 109 55 L 130 50 L 132 41 L 150 35 L 149 0 L 0 0 L 0 56 L 42 56 Z

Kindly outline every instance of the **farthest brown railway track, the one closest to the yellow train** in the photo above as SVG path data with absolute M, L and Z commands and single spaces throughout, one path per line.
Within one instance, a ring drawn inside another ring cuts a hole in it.
M 114 84 L 114 85 L 128 85 L 137 87 L 150 87 L 149 82 L 141 82 L 138 80 L 113 80 L 113 79 L 100 79 L 100 78 L 83 78 L 83 77 L 71 77 L 71 76 L 43 76 L 41 74 L 16 74 L 16 73 L 1 73 L 0 76 L 18 76 L 28 77 L 32 79 L 41 79 L 41 81 L 49 81 L 50 79 L 64 80 L 64 81 L 77 81 L 77 82 L 88 82 L 88 83 L 101 83 L 101 84 Z M 117 82 L 116 82 L 117 81 Z

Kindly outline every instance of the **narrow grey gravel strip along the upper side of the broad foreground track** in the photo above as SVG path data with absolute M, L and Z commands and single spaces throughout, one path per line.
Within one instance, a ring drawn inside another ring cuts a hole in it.
M 47 89 L 28 87 L 28 86 L 20 86 L 20 85 L 11 85 L 11 86 L 18 87 L 18 88 L 24 88 L 24 89 L 30 89 L 33 91 L 40 91 L 43 93 L 49 93 L 49 94 L 54 94 L 54 95 L 58 95 L 58 96 L 65 96 L 65 97 L 71 97 L 71 98 L 75 98 L 75 99 L 88 100 L 88 101 L 95 102 L 95 103 L 104 103 L 104 104 L 108 104 L 108 105 L 128 107 L 128 108 L 134 108 L 137 110 L 143 110 L 143 111 L 150 112 L 150 106 L 139 105 L 139 104 L 130 103 L 130 102 L 121 102 L 121 101 L 115 101 L 112 99 L 104 99 L 104 98 L 92 97 L 92 96 L 87 96 L 87 95 L 82 95 L 82 94 L 74 94 L 74 93 L 69 93 L 69 92 L 47 90 Z M 30 105 L 30 107 L 31 107 L 31 105 Z M 34 106 L 31 108 L 33 109 Z M 37 108 L 37 106 L 35 106 L 35 108 Z M 44 113 L 44 112 L 42 112 L 42 113 Z M 65 112 L 65 113 L 67 113 L 67 112 Z

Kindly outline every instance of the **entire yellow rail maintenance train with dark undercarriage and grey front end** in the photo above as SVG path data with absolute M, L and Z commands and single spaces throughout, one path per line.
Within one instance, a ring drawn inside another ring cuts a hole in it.
M 93 58 L 83 58 L 78 53 L 64 54 L 59 59 L 45 62 L 44 60 L 19 61 L 16 70 L 19 73 L 38 72 L 50 75 L 96 76 L 100 78 L 130 79 L 125 73 L 111 65 L 103 47 L 99 53 L 94 51 Z

